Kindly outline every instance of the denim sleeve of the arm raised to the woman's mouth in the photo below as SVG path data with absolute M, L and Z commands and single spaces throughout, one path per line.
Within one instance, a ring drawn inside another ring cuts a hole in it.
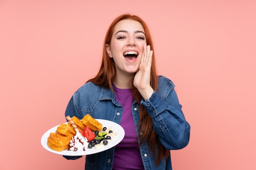
M 184 148 L 189 143 L 190 125 L 186 122 L 174 89 L 163 99 L 157 92 L 153 92 L 148 100 L 141 100 L 152 118 L 153 128 L 158 134 L 159 141 L 168 150 Z

